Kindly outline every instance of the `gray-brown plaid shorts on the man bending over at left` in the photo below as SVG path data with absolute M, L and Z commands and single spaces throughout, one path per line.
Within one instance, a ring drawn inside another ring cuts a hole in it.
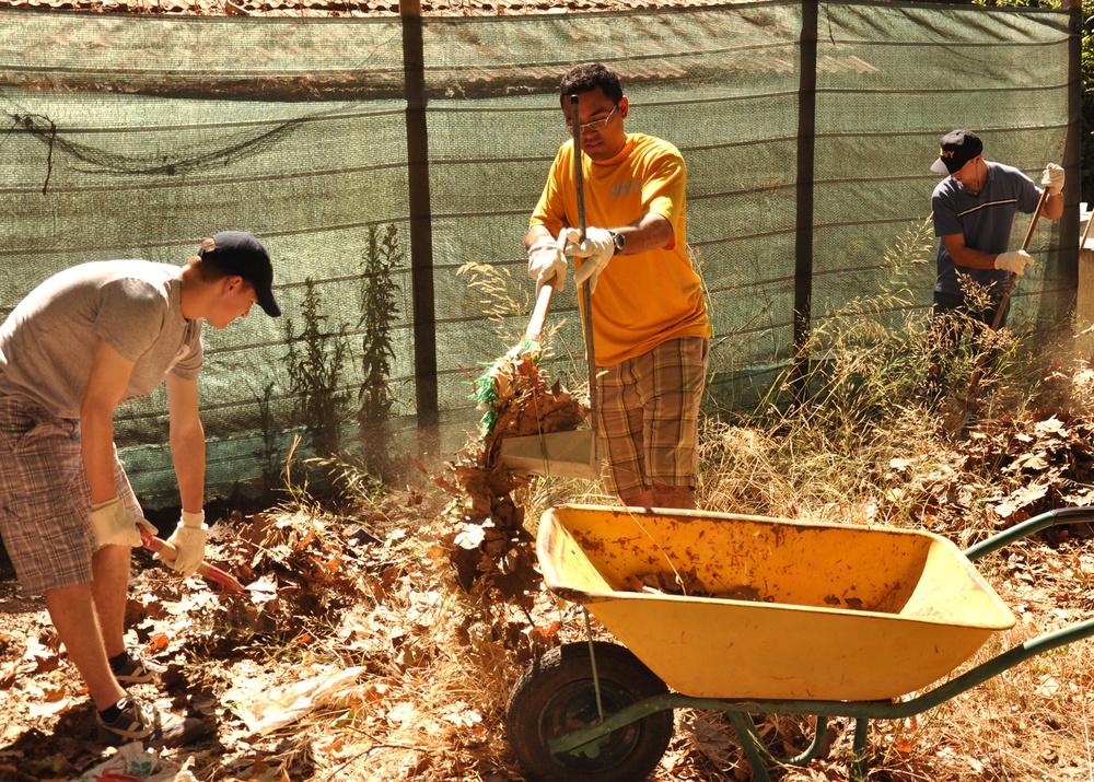
M 114 482 L 126 506 L 139 512 L 117 451 Z M 90 507 L 80 422 L 22 397 L 0 396 L 0 538 L 25 592 L 92 580 Z

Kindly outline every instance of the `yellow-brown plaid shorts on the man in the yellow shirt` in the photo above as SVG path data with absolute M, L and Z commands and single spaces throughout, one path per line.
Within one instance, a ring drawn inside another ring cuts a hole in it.
M 710 340 L 680 337 L 613 366 L 596 367 L 597 425 L 610 492 L 695 487 L 699 401 Z

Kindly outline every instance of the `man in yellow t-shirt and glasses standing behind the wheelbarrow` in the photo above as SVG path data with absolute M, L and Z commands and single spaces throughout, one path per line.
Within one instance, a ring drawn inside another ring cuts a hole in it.
M 559 149 L 524 237 L 537 287 L 566 280 L 563 230 L 589 284 L 596 352 L 596 429 L 608 488 L 627 505 L 695 507 L 699 401 L 710 322 L 687 255 L 687 168 L 667 141 L 628 133 L 619 77 L 585 63 L 562 79 L 567 125 L 579 96 L 585 241 L 579 244 L 573 141 Z M 610 262 L 609 262 L 610 261 Z

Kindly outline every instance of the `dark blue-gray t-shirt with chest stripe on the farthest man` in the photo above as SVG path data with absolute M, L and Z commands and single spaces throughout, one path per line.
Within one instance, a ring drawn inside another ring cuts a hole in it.
M 1040 190 L 1033 179 L 1013 166 L 985 161 L 988 178 L 979 195 L 974 196 L 964 185 L 947 176 L 934 188 L 931 209 L 934 210 L 934 235 L 964 234 L 965 246 L 981 253 L 1005 253 L 1010 249 L 1011 227 L 1015 211 L 1029 214 L 1037 208 Z M 953 258 L 943 242 L 939 242 L 939 277 L 935 293 L 961 294 L 961 282 Z M 1001 295 L 1009 272 L 1002 269 L 961 267 L 961 272 L 982 285 L 993 285 Z

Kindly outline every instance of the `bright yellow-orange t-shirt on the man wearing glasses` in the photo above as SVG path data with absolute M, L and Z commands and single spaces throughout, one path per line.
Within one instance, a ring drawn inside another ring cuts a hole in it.
M 666 247 L 616 256 L 601 272 L 592 297 L 597 365 L 618 364 L 677 337 L 709 337 L 702 281 L 686 252 L 687 168 L 679 151 L 652 136 L 630 133 L 612 160 L 582 154 L 582 177 L 586 225 L 614 229 L 654 213 L 673 226 Z M 555 156 L 531 223 L 552 236 L 578 225 L 572 140 Z

